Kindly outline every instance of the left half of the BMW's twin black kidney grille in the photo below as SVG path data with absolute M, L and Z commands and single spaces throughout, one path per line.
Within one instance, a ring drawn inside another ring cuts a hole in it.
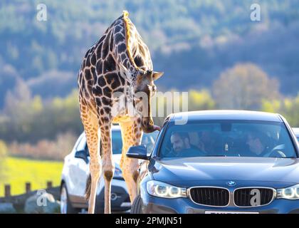
M 218 187 L 193 187 L 190 197 L 197 204 L 224 207 L 229 204 L 229 190 Z

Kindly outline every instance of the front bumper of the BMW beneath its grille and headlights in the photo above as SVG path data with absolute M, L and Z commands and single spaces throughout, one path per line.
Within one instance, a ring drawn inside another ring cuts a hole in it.
M 192 202 L 189 197 L 164 199 L 140 192 L 143 214 L 205 214 L 209 212 L 258 212 L 260 214 L 299 214 L 299 200 L 274 199 L 260 207 L 206 207 Z

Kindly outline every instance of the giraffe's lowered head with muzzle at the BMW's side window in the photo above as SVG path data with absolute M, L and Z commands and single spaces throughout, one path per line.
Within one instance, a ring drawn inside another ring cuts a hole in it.
M 160 78 L 163 72 L 140 71 L 134 86 L 135 107 L 142 115 L 142 130 L 151 133 L 160 128 L 152 120 L 151 98 L 157 92 L 154 81 Z

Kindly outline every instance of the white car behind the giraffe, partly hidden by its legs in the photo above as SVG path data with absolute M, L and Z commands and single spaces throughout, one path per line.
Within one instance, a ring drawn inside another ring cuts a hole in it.
M 142 144 L 146 144 L 149 150 L 154 146 L 158 132 L 143 134 Z M 112 125 L 112 156 L 115 162 L 115 173 L 111 183 L 111 209 L 112 212 L 122 212 L 130 209 L 130 197 L 127 192 L 125 180 L 120 170 L 120 157 L 122 153 L 122 138 L 119 125 Z M 89 151 L 82 133 L 72 152 L 65 156 L 63 172 L 61 175 L 61 213 L 78 213 L 88 208 L 85 199 L 85 185 L 90 174 Z M 98 184 L 95 212 L 103 212 L 104 206 L 104 179 L 101 177 Z

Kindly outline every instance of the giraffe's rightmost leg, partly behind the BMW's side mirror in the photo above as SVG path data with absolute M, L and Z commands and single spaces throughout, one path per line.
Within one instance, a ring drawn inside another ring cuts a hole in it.
M 122 158 L 120 167 L 122 169 L 122 176 L 127 184 L 131 203 L 137 196 L 137 178 L 139 176 L 139 163 L 135 158 L 126 156 L 127 150 L 132 145 L 140 145 L 142 130 L 141 120 L 138 118 L 132 122 L 120 123 L 122 130 Z

